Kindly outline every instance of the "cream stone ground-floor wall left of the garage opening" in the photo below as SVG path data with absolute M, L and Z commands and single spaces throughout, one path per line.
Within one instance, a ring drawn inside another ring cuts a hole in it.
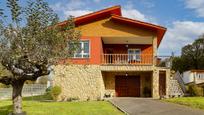
M 62 88 L 58 100 L 97 100 L 104 96 L 99 65 L 57 65 L 54 67 L 53 83 Z

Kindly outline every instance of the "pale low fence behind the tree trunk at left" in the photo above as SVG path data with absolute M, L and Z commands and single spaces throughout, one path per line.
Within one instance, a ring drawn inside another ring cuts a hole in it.
M 45 94 L 47 85 L 46 84 L 25 84 L 23 86 L 22 96 L 37 96 Z M 11 99 L 12 87 L 0 88 L 0 100 Z

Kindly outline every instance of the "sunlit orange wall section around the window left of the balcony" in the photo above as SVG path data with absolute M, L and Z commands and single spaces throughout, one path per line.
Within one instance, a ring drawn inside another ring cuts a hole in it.
M 81 40 L 89 40 L 90 57 L 89 58 L 72 58 L 74 64 L 100 64 L 101 54 L 103 52 L 101 37 L 83 36 Z

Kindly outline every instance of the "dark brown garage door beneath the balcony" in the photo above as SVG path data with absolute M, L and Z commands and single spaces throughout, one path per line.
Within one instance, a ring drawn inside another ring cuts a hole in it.
M 117 97 L 139 97 L 140 76 L 116 76 L 115 90 Z

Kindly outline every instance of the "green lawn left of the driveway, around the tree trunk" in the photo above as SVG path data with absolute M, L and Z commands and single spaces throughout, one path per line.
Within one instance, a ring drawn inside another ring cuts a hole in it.
M 23 111 L 28 115 L 123 115 L 121 111 L 107 101 L 87 102 L 40 102 L 32 101 L 39 97 L 23 99 Z M 41 98 L 41 97 L 40 97 Z M 12 111 L 10 100 L 0 101 L 0 115 Z

